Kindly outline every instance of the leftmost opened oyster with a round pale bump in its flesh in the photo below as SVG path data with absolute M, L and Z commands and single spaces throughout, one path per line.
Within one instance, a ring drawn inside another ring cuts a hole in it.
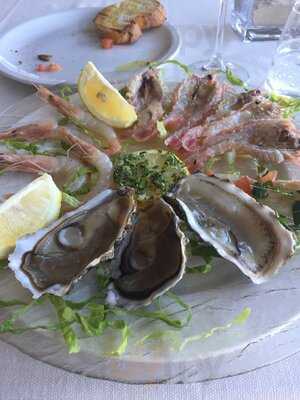
M 9 268 L 33 297 L 62 296 L 89 268 L 112 256 L 134 211 L 132 190 L 105 190 L 46 229 L 21 238 Z

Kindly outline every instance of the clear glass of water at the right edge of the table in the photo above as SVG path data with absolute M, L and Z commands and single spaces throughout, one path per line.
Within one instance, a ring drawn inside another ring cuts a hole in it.
M 266 89 L 300 97 L 300 1 L 296 1 L 281 34 Z

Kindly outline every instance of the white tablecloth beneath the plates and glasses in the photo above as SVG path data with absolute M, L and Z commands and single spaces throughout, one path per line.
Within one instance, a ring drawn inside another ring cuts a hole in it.
M 1 0 L 0 33 L 26 19 L 74 6 L 108 4 L 105 0 Z M 169 20 L 180 28 L 186 63 L 209 55 L 217 17 L 217 0 L 165 0 Z M 15 8 L 13 9 L 13 6 Z M 241 43 L 228 28 L 224 53 L 263 81 L 276 43 Z M 0 76 L 0 112 L 33 90 Z M 298 400 L 300 355 L 247 374 L 191 385 L 135 386 L 98 381 L 50 367 L 0 341 L 0 400 Z

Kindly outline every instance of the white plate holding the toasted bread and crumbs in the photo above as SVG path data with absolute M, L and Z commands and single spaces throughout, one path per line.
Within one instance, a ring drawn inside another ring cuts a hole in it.
M 166 23 L 146 31 L 133 45 L 104 50 L 93 25 L 99 8 L 78 8 L 50 14 L 21 24 L 0 39 L 0 72 L 28 84 L 57 85 L 77 82 L 80 69 L 93 61 L 113 82 L 123 82 L 137 70 L 117 72 L 132 61 L 163 61 L 175 57 L 180 48 L 178 31 Z M 57 73 L 37 73 L 38 54 L 51 54 L 52 62 L 63 67 Z

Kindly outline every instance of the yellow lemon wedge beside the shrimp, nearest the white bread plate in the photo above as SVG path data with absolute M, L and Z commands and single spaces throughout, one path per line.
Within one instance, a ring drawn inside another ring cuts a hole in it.
M 137 120 L 134 107 L 92 62 L 88 62 L 80 74 L 78 92 L 89 112 L 114 128 L 128 128 Z

